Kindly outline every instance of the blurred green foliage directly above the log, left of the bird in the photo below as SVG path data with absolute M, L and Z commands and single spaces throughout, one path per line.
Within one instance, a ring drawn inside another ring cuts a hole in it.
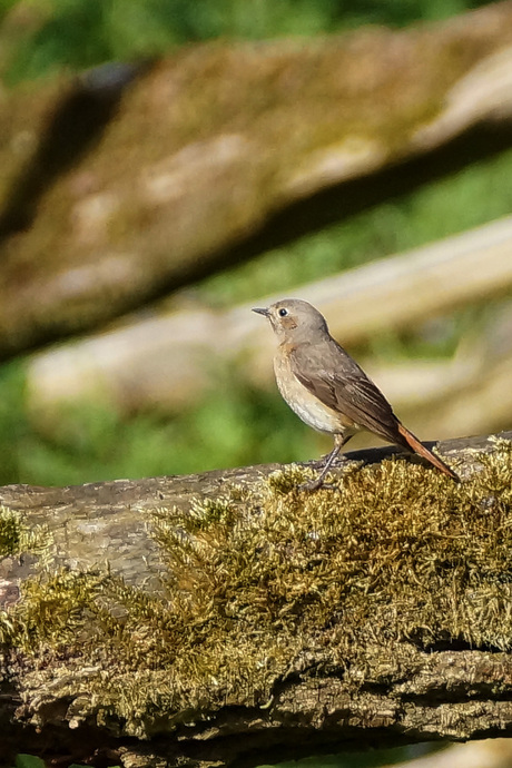
M 0 484 L 185 474 L 306 459 L 329 447 L 274 391 L 257 391 L 236 372 L 219 375 L 215 392 L 174 417 L 142 413 L 127 420 L 106 404 L 89 404 L 62 413 L 48 435 L 33 425 L 23 390 L 22 366 L 0 368 Z

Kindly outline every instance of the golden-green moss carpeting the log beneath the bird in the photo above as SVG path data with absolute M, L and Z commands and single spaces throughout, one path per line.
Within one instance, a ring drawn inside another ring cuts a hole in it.
M 432 643 L 510 649 L 512 444 L 479 462 L 457 485 L 392 459 L 315 493 L 297 490 L 311 470 L 292 466 L 189 511 L 156 510 L 161 594 L 59 571 L 24 584 L 4 641 L 32 658 L 28 687 L 48 678 L 52 695 L 76 693 L 80 670 L 76 721 L 139 737 L 229 702 L 266 707 L 306 654 L 360 687 Z M 38 663 L 49 652 L 51 671 Z

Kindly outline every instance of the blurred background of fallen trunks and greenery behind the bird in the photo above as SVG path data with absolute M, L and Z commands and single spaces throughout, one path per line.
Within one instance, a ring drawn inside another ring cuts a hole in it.
M 249 311 L 285 296 L 421 439 L 512 429 L 510 2 L 1 0 L 0 22 L 1 483 L 325 453 Z

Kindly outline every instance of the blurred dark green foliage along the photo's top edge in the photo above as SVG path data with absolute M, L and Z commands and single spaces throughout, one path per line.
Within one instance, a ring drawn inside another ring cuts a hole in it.
M 32 0 L 41 22 L 18 41 L 8 79 L 165 52 L 194 40 L 333 32 L 366 23 L 404 26 L 490 0 Z M 0 13 L 16 3 L 3 2 Z M 1 16 L 0 16 L 1 18 Z M 30 26 L 29 26 L 30 27 Z

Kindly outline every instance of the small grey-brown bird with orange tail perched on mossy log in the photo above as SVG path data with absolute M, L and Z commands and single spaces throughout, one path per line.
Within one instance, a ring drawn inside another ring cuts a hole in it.
M 285 298 L 253 312 L 268 317 L 279 342 L 274 371 L 284 400 L 303 422 L 334 436 L 334 449 L 318 477 L 306 484 L 308 490 L 322 485 L 343 445 L 360 430 L 417 453 L 459 481 L 455 472 L 400 422 L 382 392 L 331 336 L 315 307 L 298 298 Z

